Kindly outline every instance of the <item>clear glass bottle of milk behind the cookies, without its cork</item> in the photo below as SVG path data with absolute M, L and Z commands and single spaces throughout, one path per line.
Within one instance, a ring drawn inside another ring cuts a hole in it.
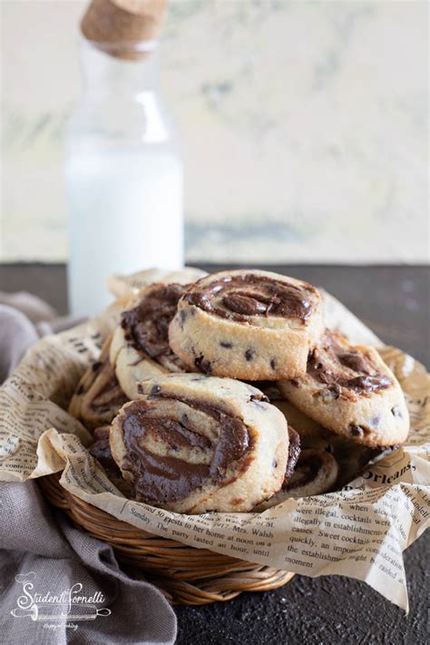
M 133 44 L 129 60 L 114 47 L 82 39 L 85 93 L 66 135 L 76 315 L 109 304 L 111 274 L 183 266 L 181 156 L 159 92 L 158 43 Z

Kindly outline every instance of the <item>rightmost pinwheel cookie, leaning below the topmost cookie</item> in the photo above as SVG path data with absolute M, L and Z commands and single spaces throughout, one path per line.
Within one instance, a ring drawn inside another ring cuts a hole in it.
M 373 347 L 352 346 L 327 330 L 309 354 L 306 375 L 278 386 L 306 415 L 354 442 L 381 447 L 406 440 L 405 396 Z

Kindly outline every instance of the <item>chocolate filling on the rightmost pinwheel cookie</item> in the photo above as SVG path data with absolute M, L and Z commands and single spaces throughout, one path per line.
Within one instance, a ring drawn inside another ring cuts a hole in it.
M 391 379 L 377 371 L 370 357 L 343 345 L 328 331 L 322 345 L 309 354 L 307 373 L 327 385 L 334 398 L 344 394 L 343 388 L 365 394 L 392 386 Z

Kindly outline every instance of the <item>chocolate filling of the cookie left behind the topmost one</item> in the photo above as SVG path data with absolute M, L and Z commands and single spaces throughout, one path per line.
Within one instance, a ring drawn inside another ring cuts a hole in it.
M 145 291 L 139 305 L 122 312 L 121 317 L 125 339 L 134 349 L 161 365 L 170 363 L 180 371 L 188 368 L 171 351 L 168 330 L 185 290 L 179 284 L 153 285 Z

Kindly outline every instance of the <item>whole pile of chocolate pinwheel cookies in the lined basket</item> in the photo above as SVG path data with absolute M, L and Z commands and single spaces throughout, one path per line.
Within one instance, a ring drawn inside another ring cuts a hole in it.
M 69 411 L 124 494 L 177 513 L 336 490 L 409 428 L 396 377 L 325 327 L 317 288 L 246 269 L 134 294 Z

